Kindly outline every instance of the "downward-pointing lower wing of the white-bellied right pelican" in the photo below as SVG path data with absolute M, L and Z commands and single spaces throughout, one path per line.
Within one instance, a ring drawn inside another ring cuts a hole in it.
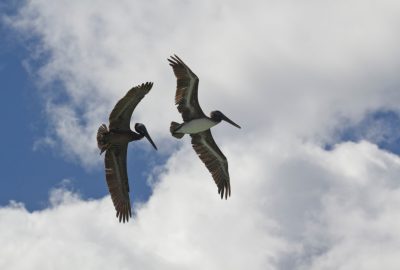
M 196 134 L 190 134 L 192 146 L 197 155 L 206 165 L 218 186 L 221 199 L 227 199 L 231 195 L 231 184 L 229 181 L 228 161 L 215 143 L 211 131 L 206 130 Z

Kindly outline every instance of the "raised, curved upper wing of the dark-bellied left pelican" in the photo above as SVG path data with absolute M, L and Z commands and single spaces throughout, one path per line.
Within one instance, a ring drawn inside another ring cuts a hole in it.
M 109 117 L 110 130 L 130 130 L 133 110 L 152 87 L 151 82 L 135 86 L 117 102 Z

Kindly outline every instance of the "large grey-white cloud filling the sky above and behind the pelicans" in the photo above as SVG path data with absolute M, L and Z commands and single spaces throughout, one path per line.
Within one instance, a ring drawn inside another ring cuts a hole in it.
M 76 144 L 69 133 L 95 141 L 118 98 L 143 81 L 154 81 L 154 89 L 133 120 L 157 140 L 169 137 L 169 122 L 180 119 L 166 61 L 172 53 L 200 77 L 204 111 L 221 109 L 247 132 L 329 140 L 344 121 L 398 110 L 399 13 L 389 0 L 59 0 L 30 1 L 10 23 L 40 38 L 36 49 L 47 61 L 39 75 L 55 103 L 48 107 L 55 136 L 69 155 L 93 164 L 96 144 Z M 54 81 L 68 97 L 61 105 Z

